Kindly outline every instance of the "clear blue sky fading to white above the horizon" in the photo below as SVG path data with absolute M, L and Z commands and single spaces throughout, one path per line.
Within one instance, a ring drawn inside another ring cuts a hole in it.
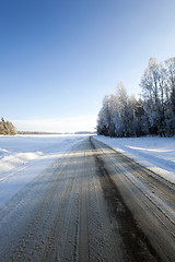
M 19 130 L 93 130 L 122 80 L 175 55 L 174 0 L 0 0 L 0 117 Z

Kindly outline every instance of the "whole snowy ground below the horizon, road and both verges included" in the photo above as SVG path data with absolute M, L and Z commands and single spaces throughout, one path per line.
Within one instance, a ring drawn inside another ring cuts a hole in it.
M 94 138 L 174 181 L 174 139 Z M 95 139 L 0 136 L 2 261 L 175 261 L 174 184 Z

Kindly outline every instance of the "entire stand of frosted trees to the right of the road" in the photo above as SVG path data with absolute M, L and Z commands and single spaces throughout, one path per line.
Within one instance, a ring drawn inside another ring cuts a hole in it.
M 175 58 L 158 63 L 151 58 L 140 87 L 141 98 L 128 96 L 122 83 L 106 96 L 97 133 L 107 136 L 175 135 Z

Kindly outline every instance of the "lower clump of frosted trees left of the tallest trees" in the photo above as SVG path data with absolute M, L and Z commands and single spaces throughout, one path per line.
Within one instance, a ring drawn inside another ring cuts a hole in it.
M 137 132 L 137 100 L 128 97 L 124 83 L 117 85 L 116 94 L 106 96 L 98 114 L 97 133 L 109 136 L 132 136 Z

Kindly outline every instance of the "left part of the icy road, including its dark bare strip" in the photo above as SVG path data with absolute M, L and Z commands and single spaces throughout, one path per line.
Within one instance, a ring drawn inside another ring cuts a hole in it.
M 9 202 L 0 215 L 2 262 L 160 261 L 114 182 L 116 163 L 101 150 L 84 139 Z M 119 186 L 131 184 L 119 165 Z

